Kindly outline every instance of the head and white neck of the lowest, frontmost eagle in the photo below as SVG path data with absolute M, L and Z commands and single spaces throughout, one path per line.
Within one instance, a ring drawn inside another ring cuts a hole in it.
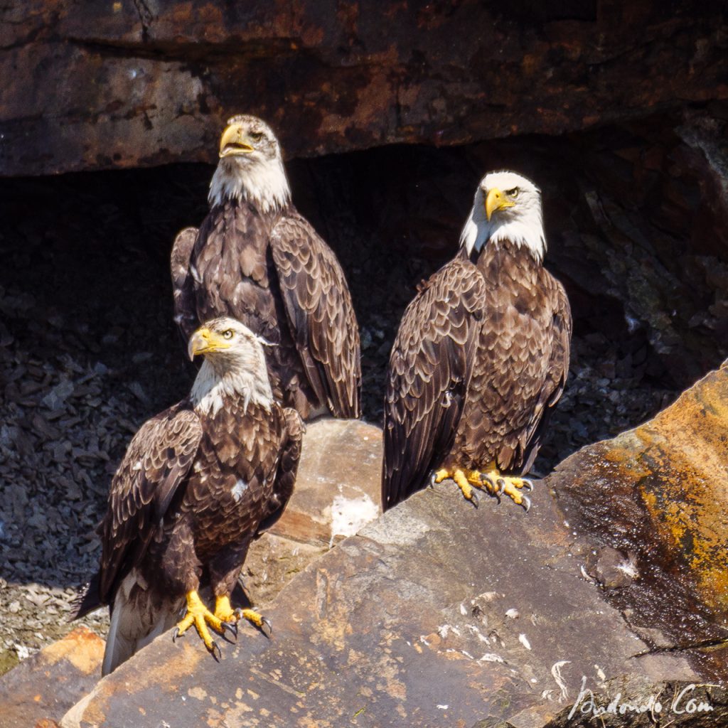
M 214 415 L 223 406 L 224 397 L 238 396 L 243 398 L 245 409 L 253 402 L 269 410 L 273 392 L 265 343 L 234 318 L 223 316 L 200 326 L 190 336 L 187 349 L 190 359 L 205 357 L 190 395 L 195 408 Z

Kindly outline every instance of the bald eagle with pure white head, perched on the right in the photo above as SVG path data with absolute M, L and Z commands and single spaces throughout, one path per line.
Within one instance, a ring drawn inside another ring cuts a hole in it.
M 513 172 L 486 175 L 453 260 L 405 311 L 384 399 L 382 505 L 430 478 L 521 493 L 569 371 L 571 309 L 543 267 L 541 192 Z

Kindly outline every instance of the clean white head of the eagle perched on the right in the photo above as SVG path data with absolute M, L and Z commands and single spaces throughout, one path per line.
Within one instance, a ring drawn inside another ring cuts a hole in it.
M 510 240 L 543 261 L 546 238 L 541 212 L 541 190 L 515 172 L 489 172 L 475 190 L 470 216 L 460 235 L 468 254 L 488 242 Z

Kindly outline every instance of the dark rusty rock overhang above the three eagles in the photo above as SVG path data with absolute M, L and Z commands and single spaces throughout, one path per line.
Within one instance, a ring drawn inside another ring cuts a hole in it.
M 34 0 L 0 14 L 3 175 L 211 162 L 239 111 L 297 157 L 558 134 L 728 96 L 726 18 L 698 0 L 669 15 L 659 0 Z

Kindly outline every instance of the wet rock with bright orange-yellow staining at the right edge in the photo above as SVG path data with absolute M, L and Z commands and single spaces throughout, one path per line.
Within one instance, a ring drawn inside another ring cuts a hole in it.
M 727 473 L 728 362 L 654 419 L 582 448 L 547 478 L 571 527 L 600 547 L 587 571 L 653 652 L 677 649 L 722 680 Z

